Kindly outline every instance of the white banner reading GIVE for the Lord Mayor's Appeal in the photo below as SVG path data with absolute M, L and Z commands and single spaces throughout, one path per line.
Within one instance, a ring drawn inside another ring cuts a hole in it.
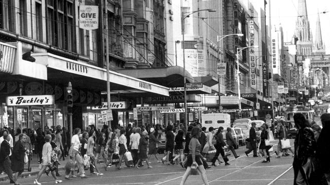
M 79 28 L 86 30 L 98 28 L 98 6 L 80 5 Z

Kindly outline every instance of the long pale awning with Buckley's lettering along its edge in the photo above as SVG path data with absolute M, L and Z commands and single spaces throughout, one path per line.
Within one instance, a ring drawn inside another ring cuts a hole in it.
M 106 90 L 106 69 L 63 58 L 50 53 L 31 54 L 36 63 L 47 66 L 48 80 L 56 82 L 72 81 L 73 86 Z M 111 93 L 130 96 L 162 95 L 169 96 L 169 88 L 137 79 L 114 71 L 110 73 Z M 98 80 L 98 81 L 97 81 Z

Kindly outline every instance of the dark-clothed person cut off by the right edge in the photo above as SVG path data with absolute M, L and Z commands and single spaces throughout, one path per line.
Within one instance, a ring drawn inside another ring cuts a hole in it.
M 324 175 L 327 184 L 330 183 L 330 114 L 321 116 L 322 130 L 316 143 L 315 157 L 318 161 L 319 174 Z

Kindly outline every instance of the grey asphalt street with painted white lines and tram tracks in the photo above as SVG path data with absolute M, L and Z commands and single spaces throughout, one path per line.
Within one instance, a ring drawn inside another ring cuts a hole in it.
M 290 140 L 293 146 L 293 140 Z M 274 147 L 274 149 L 276 146 Z M 275 158 L 274 152 L 271 152 L 272 158 L 269 163 L 261 163 L 262 157 L 252 157 L 252 153 L 247 157 L 244 154 L 245 146 L 240 146 L 237 151 L 239 158 L 234 159 L 233 154 L 229 156 L 230 165 L 212 166 L 207 169 L 207 177 L 210 184 L 292 184 L 293 170 L 291 164 L 293 158 L 281 157 Z M 159 157 L 162 156 L 158 155 Z M 211 164 L 211 163 L 209 163 Z M 114 170 L 114 167 L 108 168 L 105 171 L 101 169 L 104 175 L 96 176 L 89 175 L 89 170 L 86 174 L 88 178 L 81 179 L 80 177 L 73 178 L 73 180 L 63 180 L 61 184 L 180 184 L 181 177 L 185 170 L 180 165 L 166 166 L 162 163 L 157 163 L 154 157 L 151 157 L 152 169 L 147 169 L 146 164 L 140 169 L 123 167 L 121 170 Z M 64 171 L 60 179 L 64 179 Z M 76 174 L 76 172 L 75 172 Z M 36 175 L 18 180 L 21 184 L 32 184 Z M 43 184 L 54 183 L 53 177 L 47 177 L 45 174 L 40 181 Z M 8 184 L 9 181 L 0 182 L 0 184 Z M 203 184 L 200 175 L 192 175 L 187 179 L 186 184 Z

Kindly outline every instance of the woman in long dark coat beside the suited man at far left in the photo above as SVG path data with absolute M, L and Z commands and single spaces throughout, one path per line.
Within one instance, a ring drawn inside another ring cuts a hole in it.
M 12 170 L 14 172 L 14 178 L 17 179 L 19 175 L 24 171 L 24 157 L 25 152 L 28 153 L 23 143 L 26 141 L 26 134 L 20 133 L 18 141 L 14 145 L 12 156 Z

